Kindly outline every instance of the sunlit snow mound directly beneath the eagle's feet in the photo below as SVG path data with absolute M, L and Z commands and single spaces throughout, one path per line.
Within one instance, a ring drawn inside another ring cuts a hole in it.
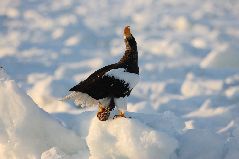
M 169 159 L 178 142 L 134 119 L 101 122 L 94 118 L 86 138 L 90 159 L 147 158 Z

